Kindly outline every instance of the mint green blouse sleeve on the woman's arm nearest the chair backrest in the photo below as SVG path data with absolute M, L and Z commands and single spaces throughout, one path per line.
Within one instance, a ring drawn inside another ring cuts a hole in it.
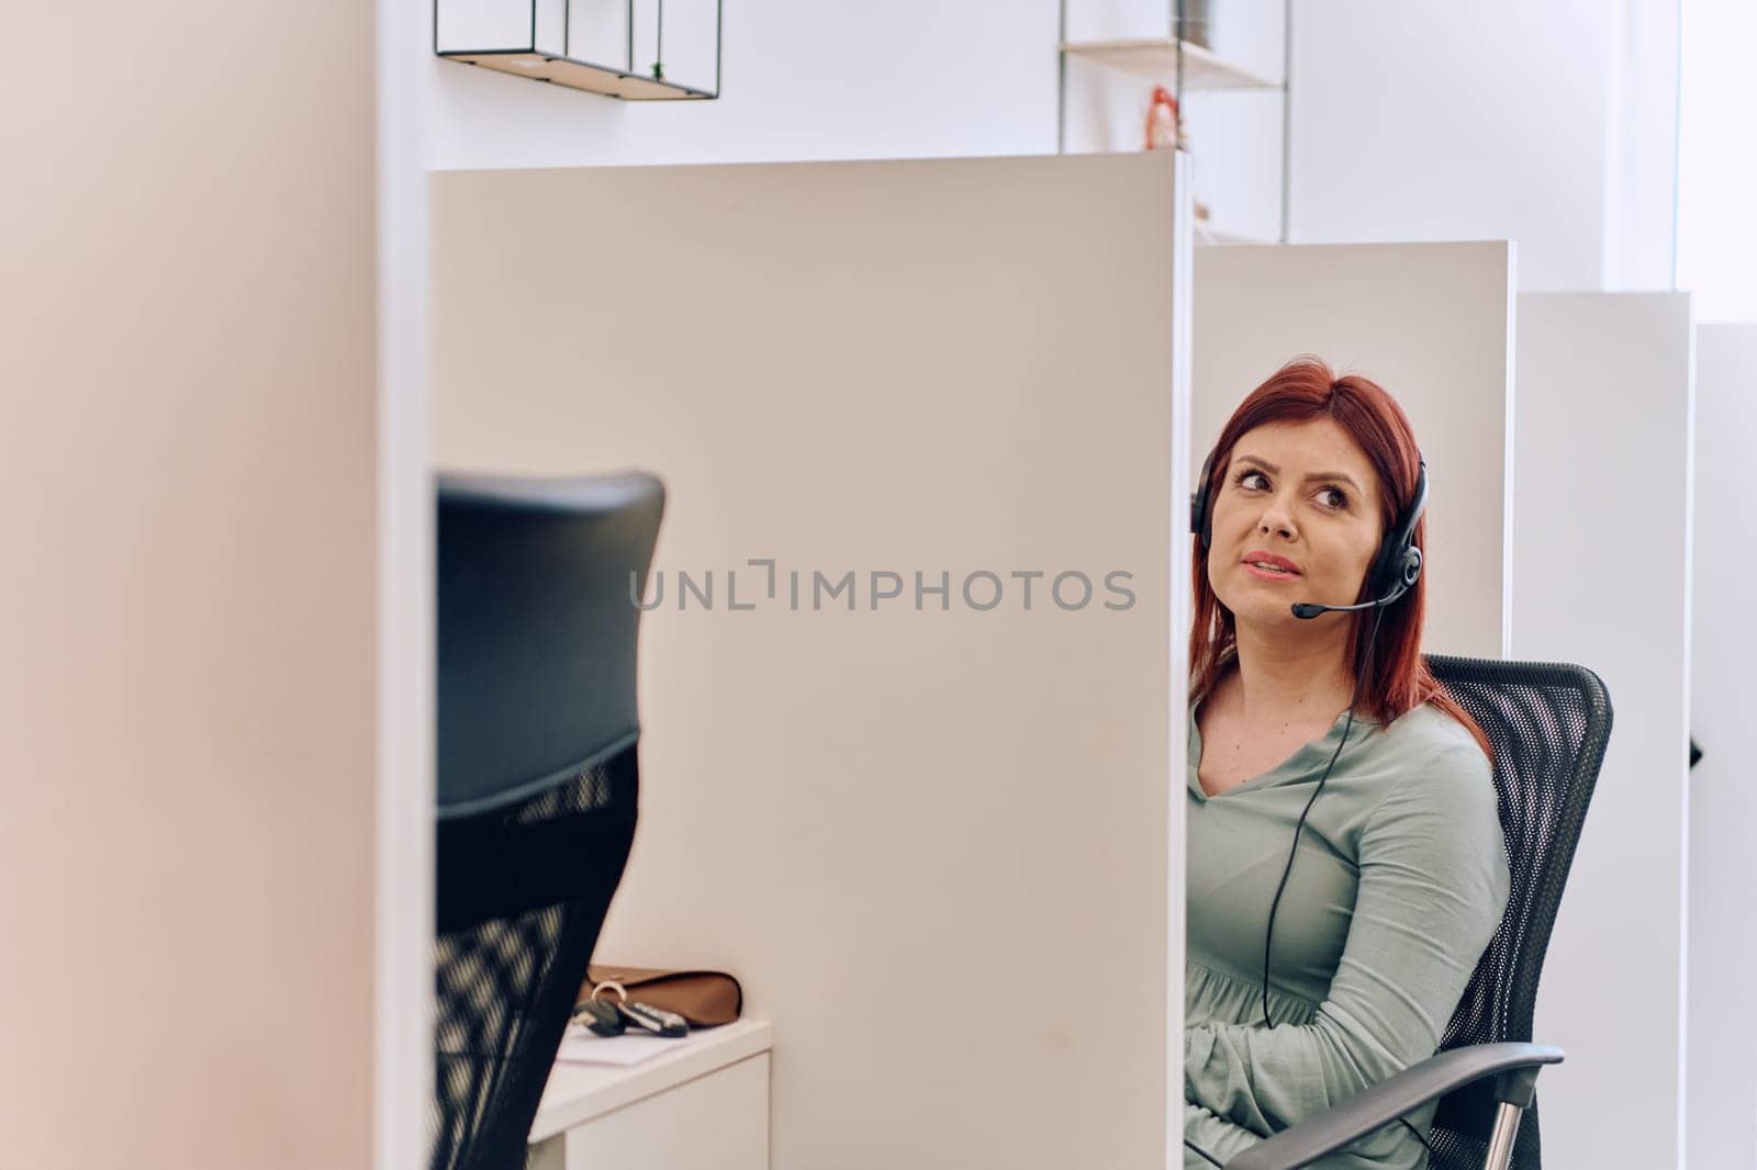
M 1508 903 L 1493 780 L 1474 743 L 1448 745 L 1393 785 L 1362 827 L 1358 871 L 1312 1021 L 1188 1028 L 1188 1101 L 1269 1135 L 1434 1054 Z

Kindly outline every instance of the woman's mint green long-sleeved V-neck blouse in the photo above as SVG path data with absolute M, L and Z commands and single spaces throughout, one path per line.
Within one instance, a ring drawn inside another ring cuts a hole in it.
M 1189 706 L 1184 1137 L 1218 1161 L 1434 1054 L 1508 905 L 1488 759 L 1427 704 L 1355 717 L 1300 834 L 1276 914 L 1263 1026 L 1263 929 L 1293 826 L 1342 738 L 1323 738 L 1219 796 L 1197 778 Z M 1434 1105 L 1409 1117 L 1425 1138 Z M 1420 1168 L 1392 1123 L 1320 1163 Z M 1186 1170 L 1211 1166 L 1184 1147 Z

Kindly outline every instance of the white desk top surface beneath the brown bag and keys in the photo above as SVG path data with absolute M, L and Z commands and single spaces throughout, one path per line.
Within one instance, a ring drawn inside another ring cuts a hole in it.
M 629 1068 L 557 1061 L 531 1124 L 531 1140 L 541 1142 L 643 1096 L 768 1052 L 770 1047 L 770 1026 L 741 1019 L 691 1033 L 687 1040 L 676 1042 L 675 1051 Z

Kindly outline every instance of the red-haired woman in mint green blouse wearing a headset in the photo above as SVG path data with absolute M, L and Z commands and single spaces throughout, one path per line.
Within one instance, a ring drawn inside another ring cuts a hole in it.
M 1425 497 L 1402 408 L 1318 358 L 1253 390 L 1209 457 L 1191 508 L 1186 1168 L 1432 1056 L 1506 910 L 1488 743 L 1421 661 Z M 1421 1166 L 1432 1119 L 1316 1165 Z

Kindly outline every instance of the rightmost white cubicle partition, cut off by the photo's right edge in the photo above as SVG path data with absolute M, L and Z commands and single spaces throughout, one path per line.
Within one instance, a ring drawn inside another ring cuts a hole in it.
M 1750 761 L 1750 671 L 1757 661 L 1750 564 L 1757 495 L 1757 325 L 1699 325 L 1696 334 L 1696 581 L 1690 734 L 1690 1170 L 1757 1166 L 1757 787 Z

